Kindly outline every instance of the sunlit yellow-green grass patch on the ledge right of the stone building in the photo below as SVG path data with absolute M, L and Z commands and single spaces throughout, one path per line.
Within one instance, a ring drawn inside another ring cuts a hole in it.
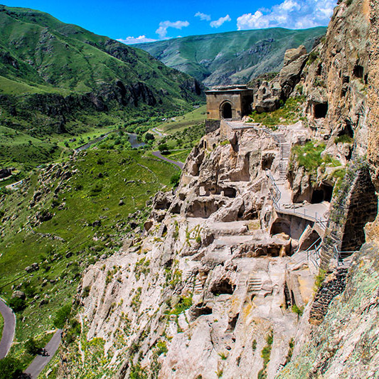
M 254 122 L 260 122 L 267 127 L 276 127 L 279 124 L 289 125 L 302 119 L 301 112 L 305 101 L 304 96 L 289 97 L 282 107 L 272 112 L 252 112 L 250 117 Z

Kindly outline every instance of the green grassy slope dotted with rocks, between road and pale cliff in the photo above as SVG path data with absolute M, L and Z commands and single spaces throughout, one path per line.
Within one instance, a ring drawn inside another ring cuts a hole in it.
M 142 151 L 104 149 L 80 154 L 70 164 L 70 170 L 76 169 L 78 173 L 65 181 L 69 186 L 58 194 L 57 203 L 66 204 L 63 210 L 52 208 L 53 189 L 59 178 L 46 182 L 49 193 L 34 208 L 28 208 L 33 193 L 43 191 L 38 174 L 31 176 L 25 191 L 11 193 L 1 201 L 0 210 L 10 219 L 3 224 L 0 220 L 0 287 L 24 275 L 23 269 L 31 263 L 41 265 L 38 272 L 16 281 L 29 293 L 28 306 L 17 314 L 18 319 L 25 318 L 23 323 L 17 324 L 17 341 L 45 336 L 52 328 L 50 317 L 75 294 L 82 269 L 100 255 L 119 249 L 122 237 L 130 230 L 129 213 L 138 209 L 148 212 L 146 201 L 162 186 L 169 185 L 176 168 L 142 154 Z M 102 178 L 99 178 L 100 172 Z M 134 183 L 126 183 L 133 180 Z M 96 186 L 102 187 L 97 194 L 93 191 Z M 120 198 L 124 205 L 119 205 Z M 43 209 L 55 213 L 54 217 L 33 226 L 33 216 Z M 99 220 L 100 226 L 92 226 Z M 98 239 L 94 239 L 95 236 Z M 73 256 L 66 257 L 68 252 Z M 11 286 L 2 292 L 2 296 L 9 299 Z M 47 304 L 40 306 L 46 295 Z M 21 357 L 25 364 L 31 360 L 22 344 L 16 345 L 12 354 Z

